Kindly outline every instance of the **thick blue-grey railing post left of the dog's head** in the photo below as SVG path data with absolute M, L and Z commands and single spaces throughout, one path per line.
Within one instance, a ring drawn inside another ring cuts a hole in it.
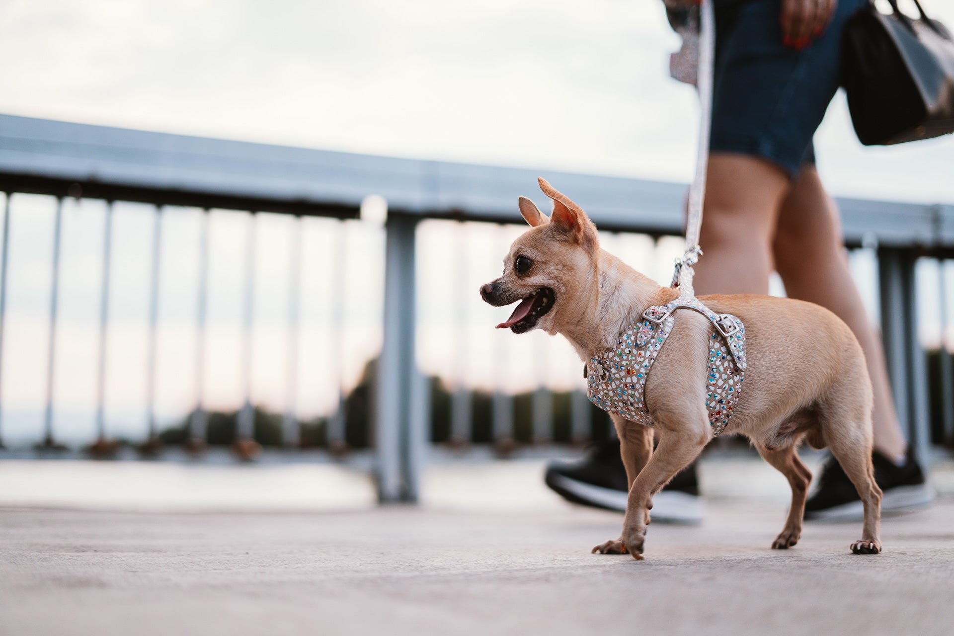
M 415 502 L 425 451 L 425 391 L 415 357 L 414 238 L 417 219 L 388 215 L 384 225 L 384 344 L 375 403 L 378 498 Z

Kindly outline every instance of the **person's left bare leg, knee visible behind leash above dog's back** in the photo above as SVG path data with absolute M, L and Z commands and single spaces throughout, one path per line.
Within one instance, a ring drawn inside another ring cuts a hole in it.
M 694 287 L 706 294 L 767 294 L 773 270 L 772 238 L 788 174 L 757 156 L 709 157 Z

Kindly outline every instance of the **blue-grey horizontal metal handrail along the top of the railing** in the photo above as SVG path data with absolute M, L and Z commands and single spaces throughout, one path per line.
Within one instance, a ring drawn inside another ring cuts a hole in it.
M 348 217 L 366 195 L 393 213 L 519 220 L 546 174 L 604 230 L 678 235 L 686 187 L 134 131 L 0 114 L 0 190 Z M 542 195 L 537 196 L 542 198 Z M 849 244 L 954 250 L 954 206 L 838 199 Z

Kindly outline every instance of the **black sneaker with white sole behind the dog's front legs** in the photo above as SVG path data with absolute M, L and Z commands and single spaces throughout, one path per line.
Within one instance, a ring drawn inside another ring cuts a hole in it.
M 629 493 L 626 468 L 619 456 L 619 440 L 597 445 L 581 462 L 550 462 L 545 481 L 570 502 L 619 512 L 626 510 Z M 700 523 L 704 509 L 694 462 L 656 493 L 652 517 L 654 522 L 661 523 Z

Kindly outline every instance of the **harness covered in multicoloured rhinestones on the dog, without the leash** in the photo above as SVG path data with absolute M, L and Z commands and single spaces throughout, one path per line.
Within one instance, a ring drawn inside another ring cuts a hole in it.
M 745 327 L 731 314 L 716 314 L 696 297 L 680 296 L 650 307 L 608 349 L 587 362 L 584 377 L 592 403 L 608 413 L 653 425 L 644 391 L 653 361 L 673 331 L 677 309 L 692 309 L 713 323 L 709 339 L 706 406 L 715 435 L 725 430 L 738 403 L 745 374 Z

